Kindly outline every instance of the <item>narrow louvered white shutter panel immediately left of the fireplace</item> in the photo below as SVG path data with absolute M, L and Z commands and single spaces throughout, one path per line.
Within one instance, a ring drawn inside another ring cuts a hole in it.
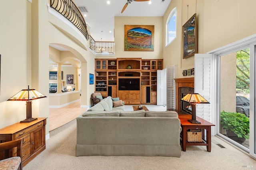
M 166 94 L 167 105 L 166 109 L 175 109 L 175 66 L 166 67 Z

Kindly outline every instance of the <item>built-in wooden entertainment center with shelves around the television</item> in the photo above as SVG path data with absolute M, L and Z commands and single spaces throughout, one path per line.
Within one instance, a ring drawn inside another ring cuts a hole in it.
M 127 105 L 156 104 L 157 70 L 163 59 L 95 59 L 95 92 Z

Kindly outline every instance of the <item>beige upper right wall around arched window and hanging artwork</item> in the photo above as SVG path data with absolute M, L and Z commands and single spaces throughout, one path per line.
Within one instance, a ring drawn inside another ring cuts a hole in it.
M 181 31 L 194 13 L 197 15 L 198 53 L 207 53 L 255 34 L 255 6 L 255 0 L 172 0 L 163 17 L 163 32 L 170 12 L 176 7 L 176 39 L 163 47 L 164 67 L 177 64 L 177 78 L 190 77 L 182 76 L 182 70 L 194 68 L 194 56 L 182 59 Z

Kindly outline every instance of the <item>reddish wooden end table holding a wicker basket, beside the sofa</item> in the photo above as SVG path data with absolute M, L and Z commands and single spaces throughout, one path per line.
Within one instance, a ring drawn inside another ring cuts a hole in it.
M 211 126 L 215 126 L 214 124 L 200 118 L 196 117 L 196 120 L 200 121 L 201 124 L 192 124 L 188 121 L 188 119 L 192 118 L 192 115 L 178 115 L 180 119 L 180 125 L 182 127 L 182 132 L 180 133 L 181 136 L 181 145 L 182 150 L 186 151 L 187 145 L 200 145 L 206 146 L 208 152 L 211 152 Z M 202 131 L 202 142 L 188 142 L 187 141 L 187 131 L 188 129 L 201 129 Z M 204 129 L 206 130 L 206 137 L 204 136 Z

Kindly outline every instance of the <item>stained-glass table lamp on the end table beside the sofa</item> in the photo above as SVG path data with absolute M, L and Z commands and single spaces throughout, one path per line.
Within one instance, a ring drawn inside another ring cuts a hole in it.
M 201 124 L 196 120 L 196 104 L 210 104 L 205 98 L 198 93 L 187 94 L 181 100 L 188 102 L 192 105 L 192 119 L 188 119 L 190 123 Z

